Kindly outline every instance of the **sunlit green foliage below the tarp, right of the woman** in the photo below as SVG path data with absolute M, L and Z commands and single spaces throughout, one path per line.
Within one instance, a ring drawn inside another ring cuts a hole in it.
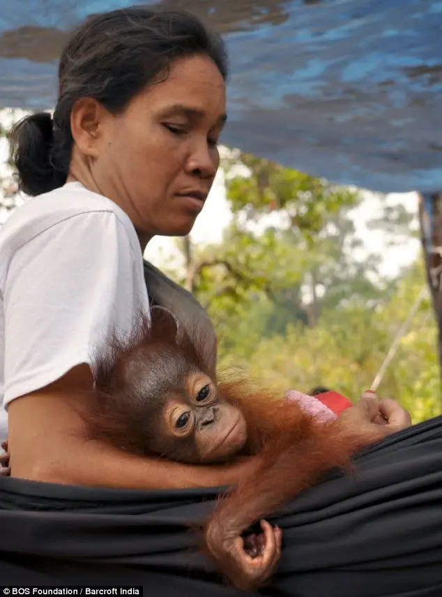
M 215 324 L 221 366 L 239 365 L 281 394 L 325 385 L 356 400 L 425 285 L 423 266 L 390 280 L 375 249 L 357 257 L 358 192 L 238 152 L 224 172 L 234 220 L 222 243 L 193 248 L 186 278 Z M 402 206 L 385 206 L 368 227 L 393 243 L 415 234 Z M 414 421 L 441 413 L 428 301 L 379 393 L 402 402 Z

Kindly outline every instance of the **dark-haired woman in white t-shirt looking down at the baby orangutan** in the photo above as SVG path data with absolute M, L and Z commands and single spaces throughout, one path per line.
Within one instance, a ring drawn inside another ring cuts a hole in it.
M 89 19 L 64 50 L 54 118 L 35 114 L 13 131 L 20 188 L 38 197 L 0 234 L 12 476 L 159 489 L 231 483 L 247 467 L 195 469 L 82 441 L 72 408 L 91 391 L 93 350 L 148 310 L 146 244 L 188 234 L 204 207 L 219 165 L 226 77 L 220 38 L 195 17 L 115 10 Z M 404 411 L 393 411 L 406 426 Z

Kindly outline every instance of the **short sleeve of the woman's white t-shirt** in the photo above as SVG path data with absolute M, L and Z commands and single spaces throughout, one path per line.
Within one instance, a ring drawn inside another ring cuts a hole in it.
M 38 234 L 15 252 L 3 284 L 4 404 L 91 364 L 143 307 L 141 250 L 114 213 L 79 213 Z

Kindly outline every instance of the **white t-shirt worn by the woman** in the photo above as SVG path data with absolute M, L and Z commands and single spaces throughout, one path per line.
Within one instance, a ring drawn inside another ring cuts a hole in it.
M 0 439 L 7 405 L 91 364 L 147 312 L 132 222 L 80 183 L 29 199 L 0 230 Z

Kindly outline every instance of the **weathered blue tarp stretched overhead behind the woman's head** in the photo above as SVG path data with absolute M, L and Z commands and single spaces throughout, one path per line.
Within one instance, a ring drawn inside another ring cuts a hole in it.
M 52 107 L 66 32 L 133 3 L 0 0 L 0 107 Z M 442 189 L 441 0 L 143 3 L 188 8 L 224 34 L 225 144 L 373 190 Z

